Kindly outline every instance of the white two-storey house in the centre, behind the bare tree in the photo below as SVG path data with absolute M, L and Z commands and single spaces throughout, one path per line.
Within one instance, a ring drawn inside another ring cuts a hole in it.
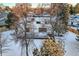
M 54 21 L 55 18 L 52 17 L 52 20 Z M 52 34 L 51 29 L 49 14 L 35 15 L 30 13 L 27 16 L 27 33 L 33 34 L 35 38 L 48 37 L 48 34 Z

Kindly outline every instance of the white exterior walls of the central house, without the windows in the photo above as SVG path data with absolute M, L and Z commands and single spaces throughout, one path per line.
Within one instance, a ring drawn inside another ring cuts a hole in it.
M 43 15 L 46 16 L 46 15 Z M 47 15 L 49 16 L 49 15 Z M 33 20 L 32 20 L 33 19 Z M 31 32 L 34 33 L 51 33 L 51 24 L 50 24 L 50 17 L 28 17 L 28 21 L 30 21 Z M 56 20 L 56 16 L 52 17 L 52 21 Z M 40 24 L 37 24 L 37 22 L 40 22 Z M 47 24 L 46 24 L 47 22 Z M 47 32 L 39 32 L 39 28 L 46 28 Z

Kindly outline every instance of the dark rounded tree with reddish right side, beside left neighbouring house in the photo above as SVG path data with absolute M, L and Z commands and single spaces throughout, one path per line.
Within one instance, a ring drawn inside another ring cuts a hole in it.
M 16 22 L 19 20 L 19 17 L 13 13 L 13 12 L 9 12 L 9 14 L 7 15 L 7 20 L 5 21 L 5 23 L 7 24 L 7 28 L 10 28 L 10 26 L 16 26 Z

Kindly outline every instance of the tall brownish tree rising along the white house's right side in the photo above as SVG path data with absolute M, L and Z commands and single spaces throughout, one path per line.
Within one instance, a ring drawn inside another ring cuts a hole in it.
M 65 33 L 65 31 L 67 30 L 66 26 L 65 26 L 65 23 L 64 22 L 67 22 L 67 18 L 68 16 L 65 16 L 64 14 L 67 13 L 68 14 L 68 11 L 65 11 L 64 9 L 67 9 L 66 8 L 66 4 L 51 4 L 51 12 L 50 12 L 50 24 L 52 26 L 52 34 L 53 34 L 53 37 L 54 37 L 54 32 L 57 32 L 58 35 L 60 33 Z M 52 9 L 54 9 L 52 11 Z M 56 17 L 53 20 L 53 17 Z

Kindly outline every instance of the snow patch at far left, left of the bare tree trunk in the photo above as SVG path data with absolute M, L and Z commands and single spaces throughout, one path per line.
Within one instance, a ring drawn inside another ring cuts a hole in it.
M 10 41 L 8 43 L 8 51 L 6 51 L 6 53 L 3 53 L 4 56 L 19 56 L 20 55 L 20 47 L 19 47 L 19 43 L 16 44 L 14 41 L 11 41 L 12 37 L 11 37 L 11 33 L 13 33 L 14 31 L 6 31 L 3 32 L 2 35 L 4 38 L 6 38 L 8 41 Z

